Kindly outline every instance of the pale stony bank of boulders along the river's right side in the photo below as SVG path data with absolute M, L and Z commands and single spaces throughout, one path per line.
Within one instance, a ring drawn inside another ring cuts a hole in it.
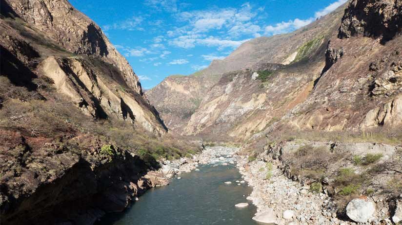
M 394 215 L 392 220 L 398 221 L 401 214 L 401 201 L 397 200 L 390 210 L 380 196 L 361 196 L 349 202 L 346 208 L 349 218 L 339 215 L 332 197 L 289 179 L 281 170 L 281 161 L 266 153 L 252 161 L 246 156 L 237 156 L 237 167 L 244 180 L 253 187 L 247 199 L 258 208 L 253 218 L 256 221 L 280 225 L 392 225 L 390 217 Z

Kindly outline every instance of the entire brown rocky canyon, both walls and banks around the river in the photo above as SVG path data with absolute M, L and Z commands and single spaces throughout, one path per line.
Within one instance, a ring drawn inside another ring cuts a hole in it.
M 401 0 L 349 0 L 144 91 L 67 0 L 1 0 L 0 222 L 94 224 L 226 145 L 256 217 L 398 224 L 401 29 Z

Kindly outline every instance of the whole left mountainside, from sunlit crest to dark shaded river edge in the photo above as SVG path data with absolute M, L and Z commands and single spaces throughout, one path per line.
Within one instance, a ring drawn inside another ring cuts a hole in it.
M 1 0 L 0 222 L 93 224 L 166 184 L 167 133 L 127 61 L 67 0 Z M 192 152 L 193 153 L 193 152 Z

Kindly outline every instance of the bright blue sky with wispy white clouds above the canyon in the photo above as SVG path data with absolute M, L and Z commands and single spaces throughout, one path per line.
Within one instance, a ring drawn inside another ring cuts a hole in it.
M 94 20 L 144 89 L 189 75 L 241 43 L 292 32 L 346 0 L 70 0 Z

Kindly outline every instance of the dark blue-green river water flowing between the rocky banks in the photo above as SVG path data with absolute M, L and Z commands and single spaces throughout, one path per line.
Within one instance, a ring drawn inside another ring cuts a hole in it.
M 100 225 L 256 225 L 256 208 L 246 197 L 251 188 L 237 185 L 234 165 L 200 166 L 180 174 L 168 186 L 148 190 L 123 213 L 109 214 Z M 232 184 L 224 184 L 231 181 Z M 247 208 L 235 204 L 248 202 Z

